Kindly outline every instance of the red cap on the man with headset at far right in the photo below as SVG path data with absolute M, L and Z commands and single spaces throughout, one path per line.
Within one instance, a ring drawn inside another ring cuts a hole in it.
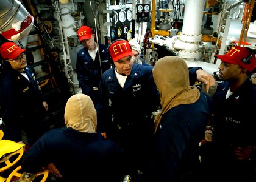
M 249 58 L 251 54 L 252 56 L 251 58 Z M 252 70 L 254 70 L 254 68 L 256 67 L 256 58 L 254 53 L 250 52 L 250 50 L 245 47 L 235 46 L 232 47 L 232 49 L 230 49 L 229 52 L 226 53 L 226 55 L 215 55 L 215 57 L 221 59 L 221 61 L 223 62 L 238 64 L 241 67 L 249 70 L 249 72 L 252 72 Z M 246 64 L 245 62 L 243 62 L 243 59 L 247 58 L 249 58 L 249 60 Z

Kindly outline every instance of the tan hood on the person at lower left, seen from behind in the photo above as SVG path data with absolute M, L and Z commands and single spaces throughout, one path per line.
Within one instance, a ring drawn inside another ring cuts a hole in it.
M 66 127 L 84 133 L 96 132 L 96 110 L 91 98 L 85 94 L 76 94 L 68 99 L 64 117 Z

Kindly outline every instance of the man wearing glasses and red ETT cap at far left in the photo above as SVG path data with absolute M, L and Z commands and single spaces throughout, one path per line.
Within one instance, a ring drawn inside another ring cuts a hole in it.
M 0 116 L 4 124 L 4 139 L 23 141 L 30 146 L 48 131 L 43 123 L 43 113 L 48 104 L 35 80 L 35 75 L 27 66 L 26 49 L 13 42 L 5 42 L 0 47 L 2 56 L 0 75 Z M 22 137 L 26 133 L 27 141 Z

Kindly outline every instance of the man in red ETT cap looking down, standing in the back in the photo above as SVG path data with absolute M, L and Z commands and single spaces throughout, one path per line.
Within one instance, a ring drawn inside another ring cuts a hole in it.
M 110 69 L 107 46 L 94 41 L 95 34 L 88 26 L 80 27 L 77 30 L 77 35 L 79 42 L 84 45 L 77 53 L 76 73 L 79 87 L 82 89 L 82 93 L 91 97 L 95 105 L 98 102 L 101 75 L 105 70 Z

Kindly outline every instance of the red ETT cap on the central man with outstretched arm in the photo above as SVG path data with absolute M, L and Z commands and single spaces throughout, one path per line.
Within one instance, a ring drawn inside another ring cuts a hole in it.
M 114 62 L 126 56 L 134 55 L 129 42 L 123 39 L 112 42 L 112 44 L 110 44 L 108 48 L 108 52 L 110 53 L 110 56 L 112 57 Z

